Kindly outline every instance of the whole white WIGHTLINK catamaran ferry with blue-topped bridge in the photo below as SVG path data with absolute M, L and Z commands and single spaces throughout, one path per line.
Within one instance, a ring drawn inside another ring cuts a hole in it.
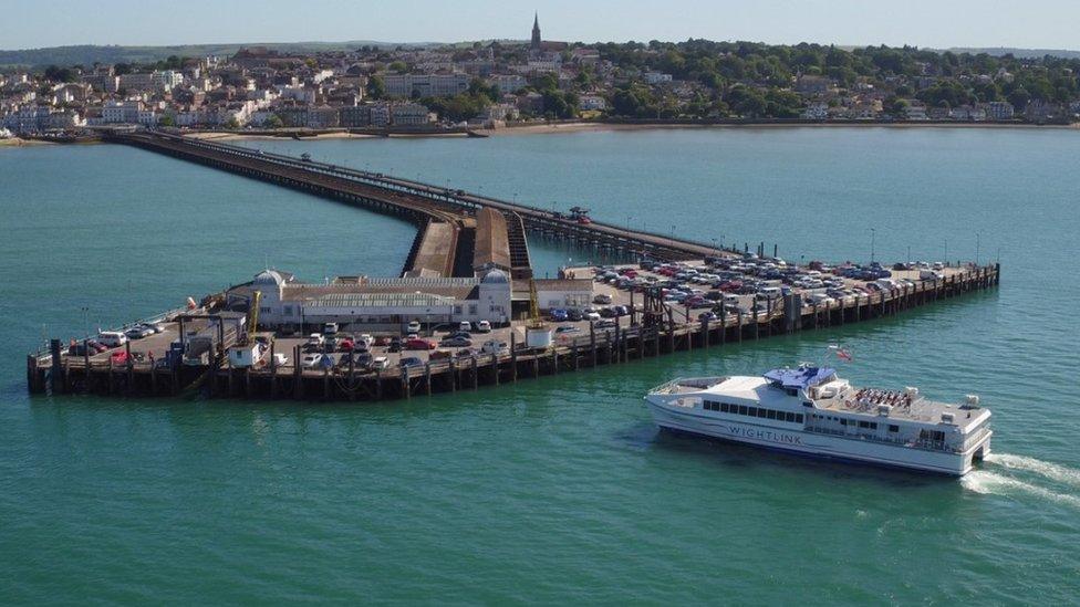
M 835 369 L 679 378 L 645 397 L 662 428 L 823 458 L 963 475 L 990 452 L 990 411 L 856 388 Z

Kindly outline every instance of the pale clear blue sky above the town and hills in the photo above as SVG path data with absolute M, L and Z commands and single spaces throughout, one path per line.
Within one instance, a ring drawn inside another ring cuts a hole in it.
M 3 0 L 0 49 L 525 39 L 1078 49 L 1080 0 Z

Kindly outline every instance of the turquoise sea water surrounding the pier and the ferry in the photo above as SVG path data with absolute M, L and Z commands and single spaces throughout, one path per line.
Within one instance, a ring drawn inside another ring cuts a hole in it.
M 246 280 L 394 274 L 413 228 L 115 146 L 0 148 L 4 604 L 1072 603 L 1080 138 L 715 129 L 246 142 L 788 259 L 1000 255 L 997 291 L 408 402 L 30 398 L 24 355 Z M 979 237 L 976 237 L 976 234 Z M 752 245 L 752 244 L 751 244 Z M 588 253 L 532 243 L 541 271 Z M 674 375 L 820 360 L 995 414 L 964 480 L 660 433 Z

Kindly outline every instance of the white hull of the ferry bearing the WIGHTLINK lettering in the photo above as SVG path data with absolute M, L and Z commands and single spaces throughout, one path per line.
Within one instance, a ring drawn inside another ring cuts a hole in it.
M 962 453 L 932 451 L 894 446 L 873 440 L 842 438 L 798 429 L 781 429 L 745 423 L 737 420 L 702 415 L 702 411 L 683 407 L 665 406 L 646 399 L 656 425 L 671 430 L 690 432 L 723 440 L 788 451 L 803 456 L 841 459 L 861 463 L 904 468 L 962 477 L 972 470 L 977 454 L 985 458 L 990 452 L 990 436 Z

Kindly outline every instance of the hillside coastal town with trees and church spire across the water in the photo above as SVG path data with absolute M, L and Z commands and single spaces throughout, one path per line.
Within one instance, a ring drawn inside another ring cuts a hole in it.
M 614 123 L 1072 124 L 1080 60 L 688 40 L 364 45 L 0 66 L 0 137 L 141 125 L 438 129 Z

